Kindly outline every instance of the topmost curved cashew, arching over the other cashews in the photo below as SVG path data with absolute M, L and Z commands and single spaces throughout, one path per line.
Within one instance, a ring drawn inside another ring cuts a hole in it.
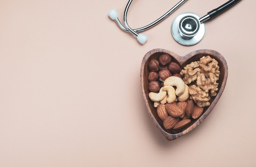
M 175 93 L 180 96 L 185 91 L 185 83 L 180 77 L 171 76 L 165 79 L 164 86 L 176 86 Z

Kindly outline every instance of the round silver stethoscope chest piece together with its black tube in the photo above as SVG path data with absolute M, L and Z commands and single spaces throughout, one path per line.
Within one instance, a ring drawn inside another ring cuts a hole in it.
M 178 15 L 171 26 L 173 38 L 183 45 L 194 45 L 202 40 L 205 34 L 204 22 L 215 18 L 220 13 L 226 11 L 240 0 L 229 0 L 220 7 L 209 11 L 200 18 L 195 13 L 182 13 Z

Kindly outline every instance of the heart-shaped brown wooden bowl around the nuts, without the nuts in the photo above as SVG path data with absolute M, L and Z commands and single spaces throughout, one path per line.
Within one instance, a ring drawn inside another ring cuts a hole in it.
M 162 125 L 163 123 L 162 120 L 159 119 L 159 117 L 157 116 L 156 108 L 154 108 L 153 106 L 154 102 L 151 101 L 148 97 L 148 93 L 150 92 L 148 90 L 148 73 L 150 72 L 148 68 L 148 63 L 150 62 L 151 59 L 158 59 L 158 57 L 163 53 L 167 53 L 168 55 L 170 55 L 172 58 L 172 61 L 180 64 L 181 68 L 183 68 L 187 64 L 190 64 L 191 62 L 198 61 L 201 57 L 207 56 L 207 55 L 216 59 L 219 63 L 218 65 L 220 66 L 220 78 L 217 81 L 219 83 L 218 91 L 217 91 L 217 95 L 210 100 L 211 105 L 204 107 L 202 115 L 198 119 L 192 119 L 191 123 L 181 130 L 172 130 L 172 129 L 166 130 Z M 168 141 L 172 141 L 180 136 L 183 136 L 184 134 L 190 132 L 195 127 L 197 127 L 202 121 L 204 121 L 204 119 L 210 114 L 211 110 L 213 110 L 214 106 L 220 99 L 220 96 L 226 85 L 227 75 L 228 75 L 227 62 L 224 59 L 224 57 L 217 51 L 202 49 L 198 51 L 193 51 L 182 57 L 176 55 L 171 51 L 167 51 L 164 49 L 153 49 L 148 53 L 146 53 L 146 55 L 144 56 L 141 62 L 141 71 L 140 71 L 141 89 L 143 92 L 144 101 L 146 103 L 146 108 L 148 110 L 150 117 L 153 119 L 153 122 L 155 123 L 157 128 L 166 137 Z

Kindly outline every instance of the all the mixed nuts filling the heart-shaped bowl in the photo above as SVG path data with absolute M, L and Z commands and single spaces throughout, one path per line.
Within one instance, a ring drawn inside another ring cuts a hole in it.
M 181 69 L 171 56 L 162 54 L 148 63 L 148 96 L 166 129 L 179 130 L 198 119 L 216 96 L 220 67 L 210 56 Z

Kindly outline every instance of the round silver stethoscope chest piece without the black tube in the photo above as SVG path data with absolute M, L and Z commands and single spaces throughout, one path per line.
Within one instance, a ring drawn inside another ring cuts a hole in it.
M 200 17 L 194 13 L 178 15 L 171 26 L 173 38 L 183 45 L 194 45 L 202 40 L 205 34 L 205 25 L 200 23 Z

